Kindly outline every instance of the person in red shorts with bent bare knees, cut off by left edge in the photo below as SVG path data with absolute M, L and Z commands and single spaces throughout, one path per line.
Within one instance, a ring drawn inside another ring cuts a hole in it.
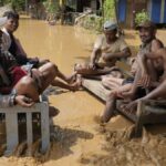
M 65 84 L 55 79 L 58 76 L 64 80 L 64 74 L 62 74 L 53 63 L 48 62 L 39 69 L 25 70 L 18 64 L 15 58 L 10 52 L 4 51 L 2 48 L 3 32 L 0 31 L 0 93 L 12 94 L 12 92 L 15 92 L 15 94 L 19 95 L 19 101 L 18 97 L 14 97 L 14 100 L 17 103 L 22 104 L 22 106 L 30 106 L 32 103 L 38 102 L 39 95 L 50 84 L 73 91 L 75 90 L 77 83 Z M 11 100 L 10 96 L 11 95 L 8 97 L 9 101 Z

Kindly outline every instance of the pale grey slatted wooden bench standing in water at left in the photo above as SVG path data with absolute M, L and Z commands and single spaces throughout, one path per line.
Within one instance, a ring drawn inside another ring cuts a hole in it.
M 0 114 L 4 114 L 6 122 L 6 136 L 7 136 L 7 151 L 4 155 L 11 155 L 15 147 L 19 145 L 18 133 L 18 114 L 24 113 L 27 120 L 27 145 L 28 151 L 31 153 L 33 143 L 33 126 L 32 114 L 39 113 L 41 116 L 41 152 L 45 153 L 50 148 L 50 121 L 49 121 L 49 104 L 44 96 L 41 96 L 41 102 L 34 104 L 32 107 L 13 106 L 8 108 L 0 108 Z

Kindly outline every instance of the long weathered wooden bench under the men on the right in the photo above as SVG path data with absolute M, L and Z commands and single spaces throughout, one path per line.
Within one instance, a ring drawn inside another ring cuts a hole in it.
M 101 98 L 103 102 L 106 100 L 106 95 L 110 92 L 104 89 L 100 81 L 84 79 L 83 87 Z M 135 137 L 142 135 L 142 128 L 145 124 L 166 123 L 166 101 L 139 101 L 136 110 L 136 114 L 129 114 L 120 108 L 122 101 L 116 102 L 116 112 L 135 123 L 135 129 L 133 132 Z

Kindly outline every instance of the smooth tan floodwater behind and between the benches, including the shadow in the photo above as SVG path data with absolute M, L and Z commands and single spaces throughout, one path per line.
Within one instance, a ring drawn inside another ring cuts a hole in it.
M 73 72 L 75 63 L 89 61 L 95 40 L 95 34 L 79 28 L 50 27 L 33 20 L 22 20 L 15 35 L 29 55 L 49 59 L 66 74 Z M 44 165 L 81 165 L 79 160 L 84 153 L 100 151 L 102 135 L 96 134 L 98 125 L 93 118 L 104 105 L 84 91 L 52 95 L 50 103 L 60 110 L 54 124 L 61 134 Z

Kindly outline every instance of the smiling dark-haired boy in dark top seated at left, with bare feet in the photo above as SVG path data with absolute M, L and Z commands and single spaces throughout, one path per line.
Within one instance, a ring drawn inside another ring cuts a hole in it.
M 2 50 L 4 52 L 10 52 L 15 58 L 18 65 L 24 65 L 24 68 L 34 69 L 34 68 L 41 66 L 44 63 L 48 63 L 49 60 L 40 60 L 38 58 L 34 58 L 34 59 L 28 58 L 21 43 L 18 42 L 18 40 L 14 38 L 13 32 L 17 31 L 19 27 L 19 14 L 13 11 L 8 11 L 4 13 L 4 15 L 7 20 L 4 20 L 2 24 L 3 25 Z M 70 76 L 66 76 L 62 72 L 59 71 L 59 77 L 62 79 L 65 82 L 65 84 L 59 80 L 55 80 L 56 81 L 55 84 L 58 84 L 58 86 L 68 89 L 70 91 L 76 91 L 80 89 L 80 83 L 79 83 L 80 80 L 75 81 L 75 73 L 71 74 Z

